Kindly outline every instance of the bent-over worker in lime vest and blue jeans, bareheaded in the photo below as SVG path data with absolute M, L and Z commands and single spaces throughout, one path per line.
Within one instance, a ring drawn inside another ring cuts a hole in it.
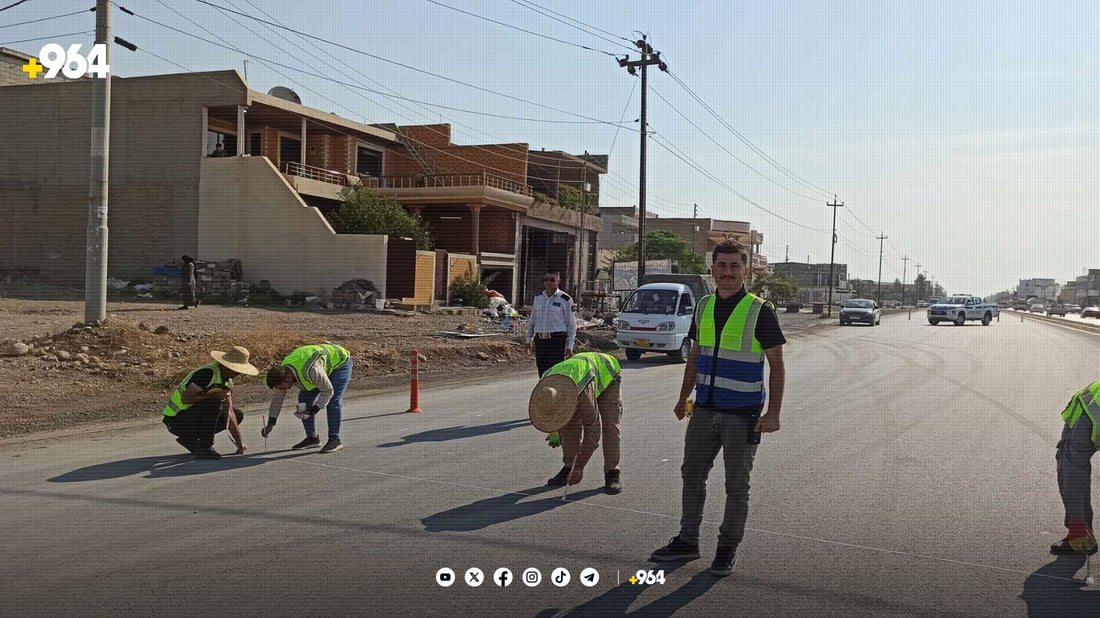
M 340 443 L 340 418 L 343 411 L 343 394 L 351 382 L 351 353 L 344 347 L 332 343 L 320 345 L 302 345 L 286 355 L 277 367 L 267 371 L 267 388 L 274 389 L 271 407 L 267 409 L 267 426 L 261 430 L 264 438 L 275 428 L 275 420 L 283 408 L 286 391 L 295 384 L 298 391 L 298 412 L 306 429 L 306 439 L 293 449 L 319 446 L 321 439 L 317 435 L 317 412 L 321 408 L 328 410 L 329 441 L 321 449 L 322 453 L 332 453 L 343 449 Z

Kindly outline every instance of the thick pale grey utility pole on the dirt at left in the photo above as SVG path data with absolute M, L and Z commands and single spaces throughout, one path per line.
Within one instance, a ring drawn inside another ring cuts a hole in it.
M 96 45 L 111 66 L 111 2 L 96 0 Z M 111 142 L 111 76 L 91 80 L 88 238 L 84 261 L 84 321 L 107 319 L 107 179 Z

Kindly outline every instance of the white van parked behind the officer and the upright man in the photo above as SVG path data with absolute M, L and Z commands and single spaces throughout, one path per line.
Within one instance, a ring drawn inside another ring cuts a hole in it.
M 615 343 L 636 361 L 646 352 L 663 352 L 680 361 L 691 354 L 688 339 L 695 295 L 683 284 L 646 284 L 627 298 L 619 312 Z

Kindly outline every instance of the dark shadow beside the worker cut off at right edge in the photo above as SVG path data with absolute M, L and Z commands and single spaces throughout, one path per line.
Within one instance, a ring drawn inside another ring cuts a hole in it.
M 1020 598 L 1027 604 L 1027 616 L 1100 615 L 1100 587 L 1075 578 L 1084 567 L 1085 556 L 1059 555 L 1024 580 Z M 1092 576 L 1100 578 L 1100 572 Z

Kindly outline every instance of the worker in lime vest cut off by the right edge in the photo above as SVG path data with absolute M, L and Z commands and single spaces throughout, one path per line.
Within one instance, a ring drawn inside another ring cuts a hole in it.
M 1058 462 L 1058 493 L 1066 508 L 1069 533 L 1050 545 L 1050 553 L 1094 554 L 1097 541 L 1092 533 L 1092 467 L 1090 460 L 1100 450 L 1097 420 L 1100 419 L 1100 380 L 1074 394 L 1062 420 L 1062 440 L 1055 460 Z

